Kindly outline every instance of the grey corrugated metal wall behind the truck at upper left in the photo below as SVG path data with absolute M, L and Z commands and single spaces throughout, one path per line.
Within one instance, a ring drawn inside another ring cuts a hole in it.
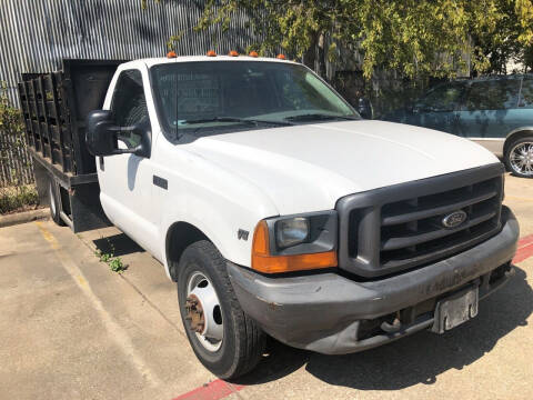
M 63 58 L 164 56 L 173 34 L 181 34 L 178 54 L 242 51 L 257 40 L 244 16 L 234 18 L 225 32 L 194 31 L 203 4 L 161 0 L 142 10 L 139 0 L 0 0 L 0 81 L 7 82 L 8 98 L 18 107 L 20 74 L 54 71 Z M 19 154 L 13 150 L 11 157 Z M 0 176 L 0 186 L 6 183 Z

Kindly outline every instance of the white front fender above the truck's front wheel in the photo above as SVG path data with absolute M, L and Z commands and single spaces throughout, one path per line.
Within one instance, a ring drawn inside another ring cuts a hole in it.
M 169 158 L 172 159 L 172 158 Z M 257 223 L 278 216 L 270 198 L 253 183 L 194 154 L 183 154 L 187 168 L 161 168 L 168 189 L 159 190 L 160 253 L 169 273 L 167 234 L 175 222 L 187 222 L 203 232 L 222 256 L 240 266 L 251 266 L 251 246 Z M 248 238 L 239 238 L 239 230 Z

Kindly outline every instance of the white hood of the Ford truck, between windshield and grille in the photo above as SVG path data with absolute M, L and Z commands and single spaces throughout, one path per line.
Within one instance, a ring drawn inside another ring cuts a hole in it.
M 224 133 L 185 146 L 257 186 L 279 214 L 330 210 L 350 193 L 499 162 L 466 139 L 365 120 Z

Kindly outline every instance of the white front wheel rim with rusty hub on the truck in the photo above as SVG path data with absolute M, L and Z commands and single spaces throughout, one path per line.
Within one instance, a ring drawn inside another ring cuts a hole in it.
M 201 272 L 192 273 L 187 282 L 185 320 L 205 350 L 220 349 L 224 337 L 222 308 L 213 284 Z

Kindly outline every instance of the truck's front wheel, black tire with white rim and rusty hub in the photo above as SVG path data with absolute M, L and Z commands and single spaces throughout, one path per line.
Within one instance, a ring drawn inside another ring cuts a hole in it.
M 207 240 L 189 246 L 180 259 L 178 299 L 198 359 L 215 376 L 233 379 L 261 360 L 265 334 L 242 311 L 225 262 Z

